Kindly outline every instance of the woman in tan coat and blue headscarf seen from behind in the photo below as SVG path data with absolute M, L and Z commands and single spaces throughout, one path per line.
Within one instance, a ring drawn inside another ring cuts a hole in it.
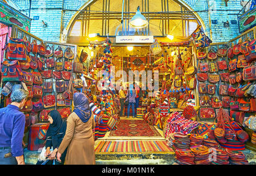
M 61 161 L 64 150 L 68 148 L 65 164 L 93 165 L 96 163 L 92 131 L 95 121 L 89 100 L 83 93 L 75 93 L 73 103 L 75 108 L 67 119 L 67 131 L 60 144 L 57 160 Z

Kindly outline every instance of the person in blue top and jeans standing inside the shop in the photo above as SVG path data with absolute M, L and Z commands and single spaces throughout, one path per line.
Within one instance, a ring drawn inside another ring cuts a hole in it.
M 136 91 L 134 90 L 133 84 L 130 84 L 129 90 L 127 91 L 126 101 L 128 101 L 127 116 L 130 116 L 130 108 L 133 111 L 133 118 L 135 118 L 135 103 L 136 103 Z

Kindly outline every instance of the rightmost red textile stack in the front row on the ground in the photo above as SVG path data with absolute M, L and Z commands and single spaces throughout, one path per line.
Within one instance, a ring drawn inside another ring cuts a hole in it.
M 226 149 L 226 153 L 229 155 L 229 162 L 232 165 L 249 165 L 245 155 L 241 151 L 234 151 Z

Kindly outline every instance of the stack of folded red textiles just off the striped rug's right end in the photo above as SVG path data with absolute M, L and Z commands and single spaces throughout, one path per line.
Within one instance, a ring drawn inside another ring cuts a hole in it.
M 173 143 L 175 149 L 188 149 L 190 140 L 188 135 L 183 135 L 183 133 L 175 133 Z

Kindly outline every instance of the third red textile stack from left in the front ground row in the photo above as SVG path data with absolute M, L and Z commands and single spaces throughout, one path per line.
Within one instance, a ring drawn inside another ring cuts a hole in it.
M 213 165 L 228 165 L 229 164 L 229 156 L 225 150 L 222 149 L 214 149 L 210 155 L 210 160 Z

